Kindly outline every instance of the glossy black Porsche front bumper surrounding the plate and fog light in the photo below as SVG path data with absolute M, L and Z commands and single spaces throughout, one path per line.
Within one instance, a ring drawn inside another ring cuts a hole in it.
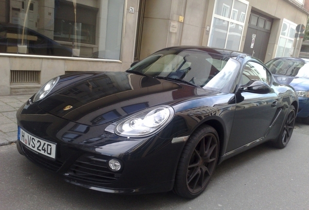
M 112 193 L 172 190 L 183 142 L 172 143 L 172 140 L 157 136 L 106 143 L 108 140 L 110 139 L 102 140 L 105 141 L 103 146 L 87 146 L 58 140 L 55 142 L 55 160 L 35 153 L 20 140 L 17 140 L 17 149 L 36 165 L 62 175 L 69 183 L 89 189 Z M 108 167 L 108 160 L 111 158 L 123 163 L 119 172 Z

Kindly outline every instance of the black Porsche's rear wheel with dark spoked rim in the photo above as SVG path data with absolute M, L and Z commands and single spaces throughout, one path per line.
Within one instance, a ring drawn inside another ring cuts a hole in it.
M 288 110 L 287 117 L 285 119 L 285 123 L 283 127 L 281 128 L 280 135 L 275 142 L 275 146 L 277 148 L 284 148 L 290 141 L 293 129 L 294 129 L 294 124 L 295 124 L 295 107 L 293 105 L 290 106 Z

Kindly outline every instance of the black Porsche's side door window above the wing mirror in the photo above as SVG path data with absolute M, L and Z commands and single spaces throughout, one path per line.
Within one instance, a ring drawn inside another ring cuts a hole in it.
M 260 80 L 270 85 L 271 74 L 262 65 L 256 62 L 250 61 L 246 64 L 242 72 L 241 80 L 242 80 L 241 81 L 242 85 L 247 84 L 250 80 Z

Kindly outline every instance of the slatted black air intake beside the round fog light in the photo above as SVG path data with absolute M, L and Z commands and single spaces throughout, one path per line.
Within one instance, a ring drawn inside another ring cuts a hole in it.
M 107 160 L 93 156 L 79 157 L 69 169 L 69 177 L 89 184 L 104 184 L 116 181 L 120 173 L 107 168 Z

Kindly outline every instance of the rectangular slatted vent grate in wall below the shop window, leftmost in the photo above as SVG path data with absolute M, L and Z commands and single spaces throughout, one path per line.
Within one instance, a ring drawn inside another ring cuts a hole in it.
M 39 83 L 40 71 L 11 70 L 10 83 Z

